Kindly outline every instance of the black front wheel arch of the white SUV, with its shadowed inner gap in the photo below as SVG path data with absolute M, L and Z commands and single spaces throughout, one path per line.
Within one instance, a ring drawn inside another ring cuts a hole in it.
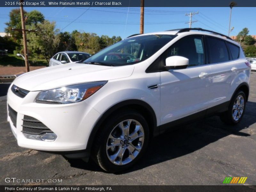
M 90 133 L 86 149 L 91 151 L 93 146 L 93 142 L 97 136 L 97 133 L 100 131 L 100 126 L 107 121 L 107 118 L 111 116 L 116 111 L 122 109 L 134 109 L 141 113 L 146 121 L 148 122 L 149 130 L 150 130 L 150 137 L 158 135 L 158 130 L 156 126 L 156 114 L 153 108 L 142 100 L 125 100 L 120 103 L 115 104 L 114 106 L 110 107 L 107 111 L 103 113 L 103 115 L 98 119 L 97 123 L 94 125 L 92 132 Z

